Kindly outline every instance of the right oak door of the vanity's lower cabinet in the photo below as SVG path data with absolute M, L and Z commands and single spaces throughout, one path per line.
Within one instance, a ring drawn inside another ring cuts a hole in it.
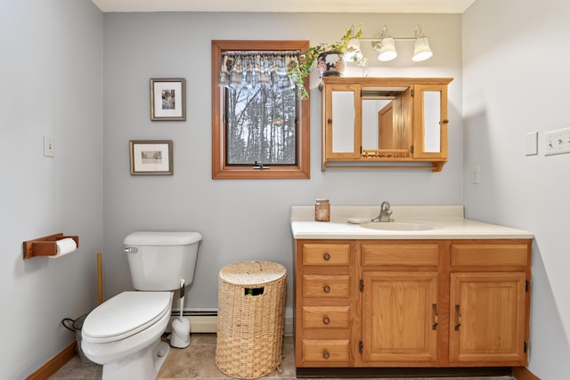
M 525 365 L 525 272 L 452 273 L 450 285 L 450 363 Z

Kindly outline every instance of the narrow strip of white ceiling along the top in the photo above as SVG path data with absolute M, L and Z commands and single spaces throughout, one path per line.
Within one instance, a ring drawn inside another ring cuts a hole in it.
M 92 0 L 102 12 L 463 13 L 476 0 Z

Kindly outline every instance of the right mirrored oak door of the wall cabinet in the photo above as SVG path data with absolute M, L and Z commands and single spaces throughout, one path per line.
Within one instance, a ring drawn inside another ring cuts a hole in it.
M 447 85 L 414 85 L 413 157 L 447 159 Z

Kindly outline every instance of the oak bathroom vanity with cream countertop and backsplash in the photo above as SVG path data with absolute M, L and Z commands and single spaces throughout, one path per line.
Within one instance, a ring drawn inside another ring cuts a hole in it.
M 297 372 L 525 366 L 533 234 L 462 206 L 392 210 L 291 207 Z

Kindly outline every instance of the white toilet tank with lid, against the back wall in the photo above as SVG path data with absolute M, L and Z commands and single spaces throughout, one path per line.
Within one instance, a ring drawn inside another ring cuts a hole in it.
M 194 279 L 198 245 L 194 231 L 139 231 L 123 240 L 137 290 L 166 291 L 180 288 L 180 279 L 190 285 Z

